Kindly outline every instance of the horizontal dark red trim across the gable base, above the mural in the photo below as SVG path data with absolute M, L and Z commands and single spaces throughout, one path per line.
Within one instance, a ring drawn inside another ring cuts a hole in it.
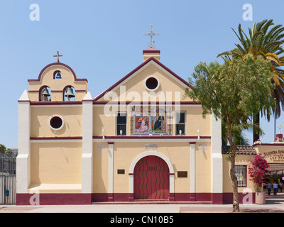
M 94 101 L 94 105 L 200 105 L 197 101 Z

